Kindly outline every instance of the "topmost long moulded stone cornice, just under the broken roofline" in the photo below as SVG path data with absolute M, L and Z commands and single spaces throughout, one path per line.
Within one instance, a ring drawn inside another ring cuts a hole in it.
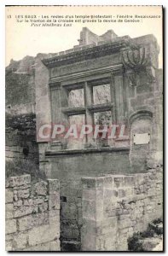
M 79 61 L 95 59 L 104 55 L 112 55 L 128 46 L 130 46 L 130 39 L 127 38 L 110 44 L 97 45 L 89 49 L 74 51 L 66 55 L 58 55 L 49 59 L 43 59 L 42 62 L 46 67 L 61 67 Z

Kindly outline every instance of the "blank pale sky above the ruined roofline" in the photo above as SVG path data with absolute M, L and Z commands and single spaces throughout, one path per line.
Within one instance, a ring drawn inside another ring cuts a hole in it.
M 161 15 L 159 6 L 9 6 L 6 7 L 6 66 L 11 59 L 19 61 L 26 55 L 56 53 L 78 44 L 82 27 L 101 35 L 112 29 L 119 37 L 130 38 L 154 34 L 158 40 L 159 67 L 162 67 L 162 19 L 141 19 L 136 22 L 73 23 L 71 27 L 39 27 L 17 22 L 16 15 Z M 9 16 L 10 15 L 10 16 Z M 11 17 L 11 18 L 9 18 Z M 25 20 L 25 19 L 24 19 Z

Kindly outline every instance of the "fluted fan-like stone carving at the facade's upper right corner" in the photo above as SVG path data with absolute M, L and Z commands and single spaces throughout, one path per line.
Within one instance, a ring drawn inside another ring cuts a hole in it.
M 155 71 L 147 48 L 124 49 L 122 60 L 130 86 L 150 84 L 155 81 Z

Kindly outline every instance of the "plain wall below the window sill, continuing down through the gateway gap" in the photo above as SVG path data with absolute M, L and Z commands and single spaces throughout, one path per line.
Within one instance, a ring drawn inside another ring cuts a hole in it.
M 82 226 L 81 177 L 114 174 L 118 168 L 123 174 L 129 173 L 129 149 L 62 150 L 61 154 L 51 152 L 48 161 L 40 161 L 40 172 L 59 179 L 61 184 L 61 249 L 78 250 Z

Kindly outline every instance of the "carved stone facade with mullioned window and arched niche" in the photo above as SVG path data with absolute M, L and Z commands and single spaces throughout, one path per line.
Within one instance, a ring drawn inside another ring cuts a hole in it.
M 105 111 L 112 123 L 125 124 L 128 131 L 127 138 L 107 145 L 86 137 L 76 148 L 64 139 L 52 143 L 37 137 L 40 171 L 61 181 L 63 250 L 81 246 L 81 177 L 147 172 L 151 162 L 162 165 L 163 89 L 158 55 L 153 35 L 120 38 L 109 31 L 107 37 L 99 38 L 84 28 L 79 45 L 37 62 L 37 131 L 42 124 L 68 125 L 76 116 L 76 122 L 81 122 L 82 115 L 86 124 L 95 125 L 95 113 Z M 93 88 L 106 84 L 110 100 L 97 103 Z M 80 102 L 71 105 L 75 90 L 84 96 L 81 106 Z M 134 137 L 141 134 L 148 135 L 149 143 L 135 143 Z

